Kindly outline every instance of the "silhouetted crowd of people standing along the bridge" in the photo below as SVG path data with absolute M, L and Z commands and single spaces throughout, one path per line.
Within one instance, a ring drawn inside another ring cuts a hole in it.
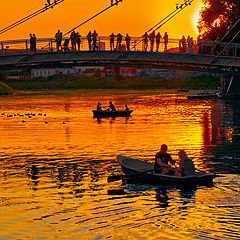
M 30 33 L 30 51 L 36 52 L 36 36 L 35 34 Z M 87 36 L 85 37 L 87 43 L 88 43 L 88 50 L 96 51 L 100 50 L 101 47 L 101 41 L 98 37 L 98 33 L 96 30 L 93 32 L 89 31 Z M 69 38 L 63 38 L 63 33 L 58 30 L 55 34 L 55 42 L 56 42 L 56 50 L 57 51 L 80 51 L 82 47 L 84 39 L 79 34 L 79 32 L 72 31 Z M 127 33 L 124 37 L 121 33 L 114 34 L 112 33 L 109 36 L 109 44 L 110 44 L 110 50 L 118 50 L 118 51 L 131 51 L 131 48 L 136 50 L 136 45 L 142 42 L 142 50 L 143 51 L 160 51 L 160 44 L 163 44 L 163 50 L 164 52 L 168 51 L 168 33 L 165 32 L 163 36 L 161 36 L 160 32 L 156 33 L 155 30 L 153 30 L 151 33 L 145 32 L 144 35 L 142 35 L 141 38 L 139 38 L 139 42 L 135 40 L 134 42 L 131 42 L 131 37 Z M 201 39 L 197 39 L 198 43 L 198 53 L 201 53 Z M 106 42 L 105 42 L 106 44 Z M 188 36 L 186 39 L 183 35 L 182 38 L 178 42 L 179 46 L 179 53 L 194 53 L 194 41 L 193 38 Z M 70 46 L 69 46 L 70 45 Z M 104 46 L 105 49 L 105 46 Z

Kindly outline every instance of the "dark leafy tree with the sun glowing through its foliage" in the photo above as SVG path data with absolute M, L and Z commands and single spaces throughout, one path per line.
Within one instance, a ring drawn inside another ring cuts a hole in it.
M 203 4 L 197 27 L 205 41 L 221 39 L 240 18 L 239 0 L 203 0 Z M 222 41 L 230 41 L 239 30 L 240 22 Z M 234 42 L 240 42 L 240 33 Z

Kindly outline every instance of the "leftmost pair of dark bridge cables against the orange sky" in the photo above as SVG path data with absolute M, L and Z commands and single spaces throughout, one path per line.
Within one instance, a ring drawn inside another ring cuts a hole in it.
M 49 10 L 50 8 L 53 8 L 54 6 L 58 5 L 59 3 L 63 2 L 63 1 L 64 0 L 55 0 L 51 4 L 45 5 L 45 7 L 39 9 L 38 11 L 36 11 L 36 12 L 34 12 L 34 13 L 32 13 L 32 14 L 30 14 L 30 15 L 28 15 L 28 16 L 20 19 L 20 20 L 18 20 L 17 22 L 15 22 L 15 23 L 13 23 L 13 24 L 11 24 L 11 25 L 1 29 L 0 30 L 0 34 L 3 34 L 5 32 L 7 32 L 7 31 L 11 30 L 12 28 L 15 28 L 16 26 L 18 26 L 18 25 L 28 21 L 29 19 L 31 19 L 31 18 L 33 18 L 35 16 L 38 16 L 41 13 L 44 13 L 45 11 Z

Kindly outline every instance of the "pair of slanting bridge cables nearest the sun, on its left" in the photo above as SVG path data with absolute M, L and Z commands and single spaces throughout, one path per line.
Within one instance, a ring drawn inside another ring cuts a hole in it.
M 182 10 L 184 10 L 187 6 L 191 5 L 191 3 L 193 2 L 194 0 L 185 0 L 183 4 L 180 5 L 180 7 L 176 8 L 174 11 L 172 11 L 168 16 L 166 16 L 165 18 L 163 18 L 160 22 L 158 22 L 156 25 L 154 25 L 152 28 L 150 28 L 148 32 L 152 31 L 154 28 L 155 31 L 158 30 L 159 28 L 161 28 L 164 24 L 166 24 L 168 21 L 170 21 L 173 17 L 175 17 L 178 13 L 180 13 Z M 139 40 L 141 39 L 141 40 Z M 134 42 L 132 43 L 133 47 L 135 48 L 139 43 L 141 43 L 143 41 L 142 37 L 139 37 L 137 38 L 138 42 Z

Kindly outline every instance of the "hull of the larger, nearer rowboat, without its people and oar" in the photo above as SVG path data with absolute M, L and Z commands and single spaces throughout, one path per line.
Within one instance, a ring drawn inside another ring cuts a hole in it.
M 122 171 L 125 174 L 136 174 L 135 179 L 137 182 L 141 181 L 143 183 L 152 183 L 152 184 L 164 184 L 164 185 L 198 185 L 198 184 L 209 184 L 213 181 L 213 178 L 216 177 L 215 174 L 205 173 L 205 172 L 195 172 L 194 175 L 189 176 L 172 176 L 172 175 L 163 175 L 155 173 L 154 171 L 144 172 L 148 169 L 151 170 L 154 168 L 154 163 L 147 161 L 142 161 L 139 159 L 129 158 L 125 156 L 118 155 L 117 160 L 122 167 Z

